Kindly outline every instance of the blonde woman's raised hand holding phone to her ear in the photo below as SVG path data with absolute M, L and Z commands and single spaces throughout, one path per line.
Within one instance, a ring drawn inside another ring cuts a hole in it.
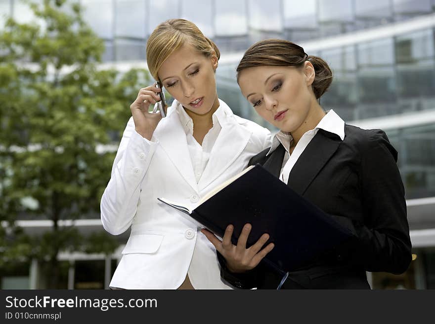
M 162 119 L 160 113 L 148 112 L 150 105 L 160 101 L 160 97 L 157 94 L 160 91 L 161 89 L 157 88 L 154 84 L 142 88 L 139 90 L 136 100 L 130 106 L 136 132 L 148 141 L 151 141 L 154 130 Z

